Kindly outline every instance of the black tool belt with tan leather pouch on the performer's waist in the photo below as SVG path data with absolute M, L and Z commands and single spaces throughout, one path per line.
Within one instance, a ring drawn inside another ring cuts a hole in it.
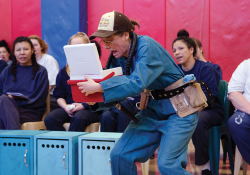
M 147 101 L 145 102 L 144 98 L 146 97 L 147 100 L 151 95 L 155 100 L 169 99 L 175 112 L 183 118 L 208 106 L 201 84 L 206 88 L 211 104 L 213 104 L 212 92 L 205 82 L 192 80 L 184 83 L 182 78 L 165 89 L 144 91 L 141 94 L 142 104 L 140 104 L 140 109 L 145 109 Z M 143 94 L 145 97 L 142 97 Z

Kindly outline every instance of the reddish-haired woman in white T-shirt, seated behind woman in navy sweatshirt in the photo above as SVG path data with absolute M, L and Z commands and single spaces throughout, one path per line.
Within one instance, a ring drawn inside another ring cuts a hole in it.
M 56 87 L 56 76 L 59 72 L 59 67 L 56 59 L 47 54 L 48 45 L 37 35 L 30 35 L 29 39 L 33 43 L 36 61 L 38 64 L 44 66 L 48 71 L 49 85 L 50 85 L 50 111 L 53 111 L 59 106 L 53 96 L 53 90 Z

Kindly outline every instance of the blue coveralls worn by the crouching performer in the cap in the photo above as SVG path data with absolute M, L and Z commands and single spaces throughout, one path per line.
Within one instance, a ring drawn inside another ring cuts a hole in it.
M 184 75 L 169 53 L 148 36 L 138 36 L 131 75 L 101 82 L 104 102 L 134 96 L 144 89 L 163 89 Z M 126 58 L 111 65 L 124 67 Z M 132 71 L 134 70 L 134 71 Z M 169 99 L 150 98 L 146 110 L 139 112 L 138 123 L 131 122 L 111 152 L 114 175 L 137 174 L 135 162 L 145 162 L 160 146 L 158 168 L 161 174 L 190 174 L 186 171 L 187 148 L 197 125 L 197 113 L 180 118 Z

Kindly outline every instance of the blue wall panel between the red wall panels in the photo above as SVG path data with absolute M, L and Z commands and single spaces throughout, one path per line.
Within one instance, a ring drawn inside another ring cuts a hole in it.
M 68 44 L 72 35 L 87 29 L 86 1 L 41 0 L 42 38 L 49 45 L 48 54 L 58 61 L 60 68 L 66 65 L 63 46 Z

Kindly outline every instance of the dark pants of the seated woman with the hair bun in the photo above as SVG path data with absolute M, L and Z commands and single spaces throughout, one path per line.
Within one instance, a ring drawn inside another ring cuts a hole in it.
M 222 124 L 223 114 L 222 108 L 205 109 L 198 113 L 198 124 L 192 136 L 196 165 L 201 166 L 209 161 L 209 129 Z

